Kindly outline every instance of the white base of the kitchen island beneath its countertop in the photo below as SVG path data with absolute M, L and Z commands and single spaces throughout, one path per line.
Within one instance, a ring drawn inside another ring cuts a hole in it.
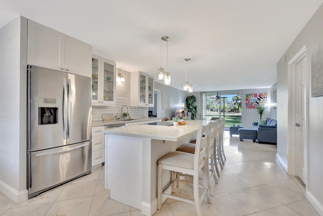
M 111 198 L 152 215 L 157 210 L 157 161 L 189 142 L 195 134 L 179 141 L 105 134 L 105 179 Z M 163 171 L 163 186 L 171 172 Z

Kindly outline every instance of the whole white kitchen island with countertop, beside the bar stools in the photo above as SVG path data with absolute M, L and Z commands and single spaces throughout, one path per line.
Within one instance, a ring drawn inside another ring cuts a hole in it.
M 186 125 L 131 125 L 102 130 L 105 133 L 105 188 L 112 199 L 140 209 L 144 215 L 157 210 L 157 160 L 196 136 L 208 121 L 189 120 Z M 163 173 L 163 184 L 171 173 Z M 164 201 L 164 200 L 163 200 Z

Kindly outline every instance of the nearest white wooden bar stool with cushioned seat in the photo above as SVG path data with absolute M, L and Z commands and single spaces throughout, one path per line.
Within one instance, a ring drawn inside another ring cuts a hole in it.
M 209 145 L 209 125 L 199 126 L 196 137 L 195 153 L 190 154 L 186 152 L 171 152 L 158 160 L 158 183 L 157 183 L 157 209 L 161 209 L 161 200 L 164 197 L 180 200 L 195 204 L 196 212 L 198 216 L 202 216 L 201 202 L 206 195 L 208 203 L 211 203 L 211 198 L 208 193 L 206 179 L 208 178 L 208 166 L 207 166 L 207 145 Z M 204 136 L 203 136 L 204 134 Z M 162 179 L 163 170 L 172 171 L 172 181 L 163 189 Z M 199 185 L 199 172 L 203 173 L 203 185 Z M 175 196 L 172 194 L 166 194 L 165 191 L 172 186 L 172 192 L 175 192 L 176 182 L 182 182 L 183 180 L 176 178 L 176 173 L 185 173 L 193 176 L 193 193 L 194 200 L 184 197 Z M 200 195 L 200 187 L 202 189 Z

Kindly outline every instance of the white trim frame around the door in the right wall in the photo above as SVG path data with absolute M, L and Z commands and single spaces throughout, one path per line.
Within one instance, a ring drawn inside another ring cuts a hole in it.
M 296 106 L 296 64 L 299 63 L 303 58 L 306 58 L 306 45 L 288 62 L 288 156 L 287 156 L 287 173 L 289 175 L 296 175 L 296 118 L 295 118 L 295 106 Z M 305 76 L 305 141 L 306 153 L 305 156 L 305 184 L 308 182 L 308 62 L 306 59 L 306 76 Z

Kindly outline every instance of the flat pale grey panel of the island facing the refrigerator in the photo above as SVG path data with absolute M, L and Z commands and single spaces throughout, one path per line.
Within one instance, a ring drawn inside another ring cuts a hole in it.
M 110 197 L 141 209 L 142 140 L 105 134 L 105 181 Z

